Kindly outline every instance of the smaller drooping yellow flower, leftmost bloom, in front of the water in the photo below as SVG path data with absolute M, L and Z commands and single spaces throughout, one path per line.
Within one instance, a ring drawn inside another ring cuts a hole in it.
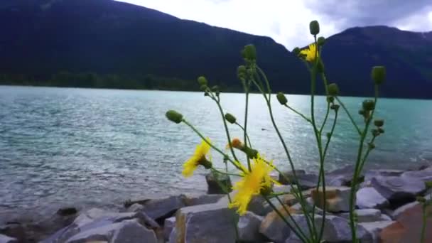
M 210 139 L 207 138 L 207 141 L 210 143 Z M 205 158 L 209 151 L 210 145 L 207 144 L 204 140 L 201 142 L 201 144 L 198 144 L 195 152 L 193 153 L 193 156 L 191 156 L 189 160 L 183 164 L 183 176 L 190 177 L 191 175 L 193 175 L 193 171 L 195 171 L 200 165 L 204 166 L 205 168 L 211 168 L 212 162 L 208 161 L 207 158 Z

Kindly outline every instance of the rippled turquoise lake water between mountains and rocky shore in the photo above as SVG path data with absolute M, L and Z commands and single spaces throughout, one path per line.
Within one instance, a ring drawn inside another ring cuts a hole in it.
M 244 95 L 221 97 L 225 110 L 242 123 Z M 309 100 L 288 95 L 288 102 L 306 114 Z M 342 100 L 363 125 L 357 114 L 362 98 Z M 276 97 L 273 103 L 297 168 L 315 171 L 311 126 L 281 107 Z M 325 104 L 324 97 L 317 98 L 318 121 Z M 168 121 L 168 109 L 183 113 L 220 148 L 227 144 L 217 107 L 200 92 L 0 86 L 0 211 L 118 205 L 128 198 L 204 193 L 203 169 L 192 178 L 180 175 L 200 139 L 184 124 Z M 385 134 L 377 139 L 369 166 L 400 168 L 432 161 L 432 101 L 380 99 L 377 117 L 385 119 Z M 288 168 L 261 95 L 250 97 L 249 121 L 254 147 Z M 242 137 L 237 127 L 229 129 L 232 136 Z M 353 163 L 356 139 L 341 110 L 325 168 Z M 212 154 L 216 166 L 222 166 L 221 157 Z

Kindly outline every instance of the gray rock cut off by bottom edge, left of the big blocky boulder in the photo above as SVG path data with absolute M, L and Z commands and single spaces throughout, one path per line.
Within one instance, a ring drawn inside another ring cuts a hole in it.
M 157 243 L 156 234 L 137 222 L 124 220 L 110 225 L 95 227 L 70 237 L 65 243 L 86 243 L 91 241 L 109 241 L 112 243 Z

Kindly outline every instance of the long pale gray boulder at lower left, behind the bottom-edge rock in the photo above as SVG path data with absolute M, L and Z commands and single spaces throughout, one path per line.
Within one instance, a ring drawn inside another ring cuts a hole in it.
M 114 225 L 126 220 L 136 220 L 136 222 L 139 222 L 149 229 L 158 229 L 159 227 L 159 225 L 144 212 L 107 212 L 98 208 L 92 208 L 86 212 L 82 212 L 71 225 L 60 229 L 42 242 L 67 242 L 71 237 L 86 231 L 94 232 L 100 230 L 100 232 L 106 232 L 105 230 L 108 229 L 121 229 L 121 225 L 116 225 L 111 228 L 109 225 Z M 101 227 L 105 228 L 101 229 Z

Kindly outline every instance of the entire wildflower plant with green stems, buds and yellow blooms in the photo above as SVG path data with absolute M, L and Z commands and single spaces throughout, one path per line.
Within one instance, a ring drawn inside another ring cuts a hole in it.
M 311 75 L 311 113 L 303 114 L 299 112 L 295 107 L 293 107 L 282 92 L 278 92 L 276 99 L 279 104 L 288 108 L 288 112 L 293 112 L 300 116 L 304 121 L 311 125 L 311 131 L 313 131 L 315 137 L 316 151 L 318 153 L 318 183 L 315 186 L 315 190 L 319 190 L 323 194 L 323 200 L 326 199 L 326 185 L 325 185 L 325 158 L 328 156 L 328 148 L 330 146 L 330 141 L 333 138 L 333 134 L 336 131 L 336 124 L 338 123 L 338 114 L 340 110 L 343 110 L 349 117 L 356 133 L 358 134 L 359 146 L 356 154 L 355 161 L 355 171 L 352 176 L 351 183 L 351 193 L 350 193 L 350 227 L 352 232 L 352 241 L 358 242 L 357 239 L 357 220 L 354 213 L 355 210 L 355 194 L 358 190 L 359 177 L 369 153 L 375 148 L 375 140 L 377 137 L 384 134 L 384 120 L 375 119 L 374 113 L 377 109 L 377 99 L 379 85 L 381 85 L 386 76 L 385 68 L 382 66 L 377 66 L 372 68 L 371 77 L 374 82 L 374 98 L 366 99 L 362 102 L 362 107 L 359 114 L 365 121 L 364 126 L 357 124 L 352 114 L 347 110 L 345 104 L 340 99 L 340 89 L 335 82 L 328 82 L 327 75 L 325 72 L 325 65 L 322 59 L 323 47 L 325 46 L 325 38 L 322 36 L 318 37 L 320 33 L 320 25 L 318 21 L 311 21 L 309 25 L 311 35 L 313 36 L 313 43 L 308 45 L 306 48 L 295 48 L 293 53 L 298 55 L 298 58 L 305 64 L 306 68 Z M 238 176 L 239 181 L 232 186 L 234 190 L 234 196 L 231 197 L 228 194 L 230 208 L 237 210 L 239 215 L 244 215 L 247 212 L 249 202 L 254 197 L 262 197 L 269 205 L 274 209 L 277 215 L 286 223 L 286 225 L 291 229 L 291 231 L 296 234 L 298 239 L 302 242 L 323 242 L 323 233 L 325 228 L 325 217 L 326 217 L 326 203 L 320 204 L 322 207 L 321 220 L 315 220 L 316 206 L 313 205 L 312 210 L 306 201 L 306 197 L 303 195 L 301 185 L 298 183 L 298 176 L 296 175 L 296 168 L 293 158 L 291 158 L 291 151 L 288 148 L 288 142 L 284 138 L 283 134 L 279 130 L 279 126 L 276 124 L 274 119 L 273 107 L 271 105 L 271 98 L 273 92 L 271 90 L 271 85 L 266 77 L 264 71 L 257 64 L 257 50 L 254 45 L 245 45 L 241 51 L 242 58 L 244 60 L 243 65 L 239 65 L 237 68 L 237 77 L 244 87 L 245 94 L 245 107 L 244 107 L 244 117 L 243 124 L 239 123 L 239 119 L 224 111 L 221 104 L 221 90 L 217 86 L 209 86 L 207 78 L 204 76 L 198 77 L 198 85 L 200 90 L 204 92 L 205 97 L 212 99 L 217 109 L 220 112 L 222 118 L 222 124 L 224 125 L 225 135 L 227 137 L 227 146 L 224 149 L 218 148 L 215 144 L 212 144 L 209 138 L 201 134 L 198 129 L 193 126 L 188 120 L 183 117 L 182 114 L 170 110 L 166 112 L 166 117 L 173 121 L 175 124 L 185 124 L 192 129 L 195 134 L 197 134 L 200 139 L 202 139 L 201 144 L 197 146 L 195 152 L 183 165 L 183 175 L 185 177 L 193 175 L 193 172 L 199 168 L 205 168 L 210 170 L 212 173 L 218 173 L 223 175 Z M 322 83 L 318 81 L 321 80 Z M 315 115 L 315 99 L 317 97 L 316 90 L 318 85 L 322 85 L 325 90 L 325 104 L 326 112 L 325 117 L 322 121 L 318 121 Z M 248 135 L 248 110 L 249 110 L 249 93 L 251 90 L 258 91 L 262 97 L 264 97 L 264 102 L 266 103 L 271 124 L 274 127 L 274 131 L 279 138 L 280 144 L 284 149 L 286 154 L 286 161 L 288 162 L 288 167 L 291 168 L 292 176 L 289 178 L 281 173 L 279 168 L 277 168 L 273 161 L 267 160 L 258 148 L 254 148 L 251 144 Z M 333 118 L 332 118 L 333 117 Z M 241 119 L 241 118 L 240 118 Z M 325 129 L 328 122 L 331 122 L 330 130 Z M 234 138 L 229 131 L 229 126 L 239 126 L 242 129 L 242 139 Z M 374 128 L 370 129 L 370 126 Z M 370 133 L 369 133 L 370 131 Z M 369 136 L 368 136 L 369 135 Z M 370 137 L 370 140 L 367 141 Z M 366 142 L 367 141 L 367 142 Z M 214 150 L 220 153 L 225 163 L 225 171 L 222 169 L 215 168 L 212 163 L 211 157 L 209 156 L 210 150 Z M 236 153 L 237 151 L 237 153 Z M 240 156 L 241 155 L 241 156 Z M 243 162 L 242 162 L 243 161 Z M 236 173 L 229 173 L 228 164 L 231 164 Z M 300 203 L 300 210 L 303 213 L 307 228 L 302 228 L 298 225 L 298 222 L 294 220 L 292 216 L 292 210 L 285 205 L 283 200 L 279 198 L 280 193 L 274 193 L 273 186 L 278 182 L 271 178 L 271 171 L 277 171 L 281 176 L 284 176 L 285 180 L 289 182 L 291 187 L 290 193 L 296 198 Z M 276 200 L 281 203 L 283 207 L 276 207 L 274 203 L 270 200 L 271 198 L 276 198 Z M 319 225 L 318 225 L 319 224 Z M 234 225 L 237 225 L 234 222 Z

